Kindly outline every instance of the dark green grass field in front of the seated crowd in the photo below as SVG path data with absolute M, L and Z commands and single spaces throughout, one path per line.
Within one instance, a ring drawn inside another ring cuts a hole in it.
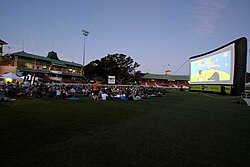
M 0 166 L 249 166 L 250 108 L 212 96 L 1 102 Z

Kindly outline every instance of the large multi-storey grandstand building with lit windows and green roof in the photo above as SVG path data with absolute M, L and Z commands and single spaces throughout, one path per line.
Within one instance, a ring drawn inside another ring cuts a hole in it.
M 78 63 L 60 60 L 57 53 L 51 51 L 47 57 L 26 53 L 24 51 L 5 55 L 0 66 L 5 69 L 15 68 L 16 73 L 24 76 L 24 80 L 44 83 L 83 83 L 83 66 Z

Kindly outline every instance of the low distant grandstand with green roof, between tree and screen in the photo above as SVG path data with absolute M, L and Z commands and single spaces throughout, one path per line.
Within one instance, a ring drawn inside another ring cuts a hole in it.
M 167 70 L 166 74 L 147 73 L 141 78 L 141 85 L 156 87 L 180 87 L 188 86 L 188 81 L 188 75 L 171 75 L 171 73 Z

